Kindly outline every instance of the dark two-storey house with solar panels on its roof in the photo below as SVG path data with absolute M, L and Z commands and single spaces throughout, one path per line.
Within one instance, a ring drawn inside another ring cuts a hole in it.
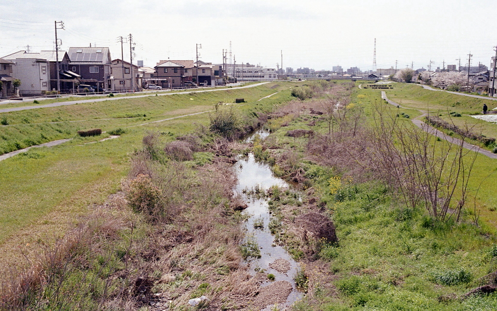
M 69 48 L 69 70 L 80 75 L 81 82 L 101 89 L 111 89 L 109 48 Z

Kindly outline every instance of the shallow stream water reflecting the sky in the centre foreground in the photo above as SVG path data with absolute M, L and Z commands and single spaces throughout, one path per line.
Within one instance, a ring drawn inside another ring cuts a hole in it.
M 274 177 L 268 165 L 255 162 L 253 154 L 249 154 L 247 158 L 240 159 L 235 164 L 235 170 L 239 181 L 235 191 L 240 193 L 248 204 L 248 208 L 244 213 L 250 215 L 246 224 L 247 237 L 253 237 L 255 239 L 261 254 L 260 258 L 248 261 L 250 273 L 255 275 L 256 271 L 264 269 L 266 273 L 274 274 L 275 281 L 290 282 L 293 290 L 286 301 L 287 305 L 290 305 L 303 296 L 303 294 L 297 290 L 295 281 L 293 280 L 297 269 L 299 268 L 299 264 L 292 259 L 285 249 L 273 244 L 274 237 L 268 229 L 270 214 L 267 199 L 253 199 L 243 193 L 243 190 L 246 188 L 251 189 L 259 187 L 261 190 L 265 191 L 271 186 L 289 187 L 289 185 L 282 179 Z M 263 220 L 264 227 L 263 229 L 254 229 L 253 224 L 259 219 Z M 285 259 L 290 263 L 289 271 L 280 273 L 269 267 L 269 264 L 278 258 Z M 271 282 L 268 280 L 262 286 L 264 287 L 269 284 L 271 284 Z

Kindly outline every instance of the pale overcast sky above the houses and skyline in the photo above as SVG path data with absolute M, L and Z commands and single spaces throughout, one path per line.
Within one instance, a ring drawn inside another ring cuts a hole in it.
M 135 60 L 199 59 L 331 70 L 490 66 L 497 45 L 495 0 L 0 0 L 0 57 L 26 50 L 109 47 L 132 34 Z M 283 62 L 282 62 L 283 56 Z M 129 61 L 129 41 L 124 59 Z M 228 55 L 228 58 L 230 56 Z M 460 59 L 460 61 L 459 61 Z

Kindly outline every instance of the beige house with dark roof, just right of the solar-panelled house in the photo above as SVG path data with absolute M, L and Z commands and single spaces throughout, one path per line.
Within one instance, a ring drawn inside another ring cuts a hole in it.
M 133 68 L 133 72 L 131 72 Z M 134 77 L 133 87 L 141 87 L 139 81 L 140 67 L 137 65 L 130 66 L 129 62 L 120 59 L 113 60 L 110 65 L 110 77 L 108 89 L 111 91 L 131 90 L 131 78 Z

